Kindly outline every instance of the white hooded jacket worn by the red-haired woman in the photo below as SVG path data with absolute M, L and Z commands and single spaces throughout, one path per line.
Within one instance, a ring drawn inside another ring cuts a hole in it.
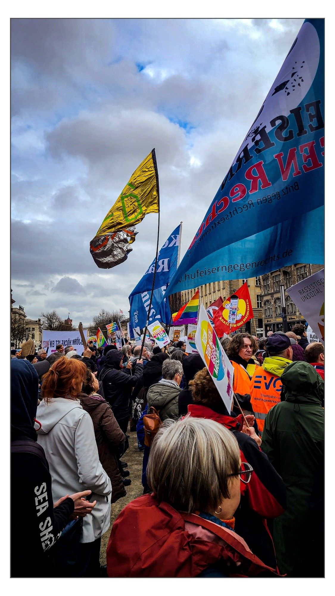
M 93 542 L 110 526 L 111 483 L 99 461 L 91 416 L 79 400 L 57 398 L 42 400 L 36 418 L 42 424 L 38 443 L 48 460 L 54 501 L 88 490 L 89 500 L 97 500 L 83 519 L 81 542 Z

